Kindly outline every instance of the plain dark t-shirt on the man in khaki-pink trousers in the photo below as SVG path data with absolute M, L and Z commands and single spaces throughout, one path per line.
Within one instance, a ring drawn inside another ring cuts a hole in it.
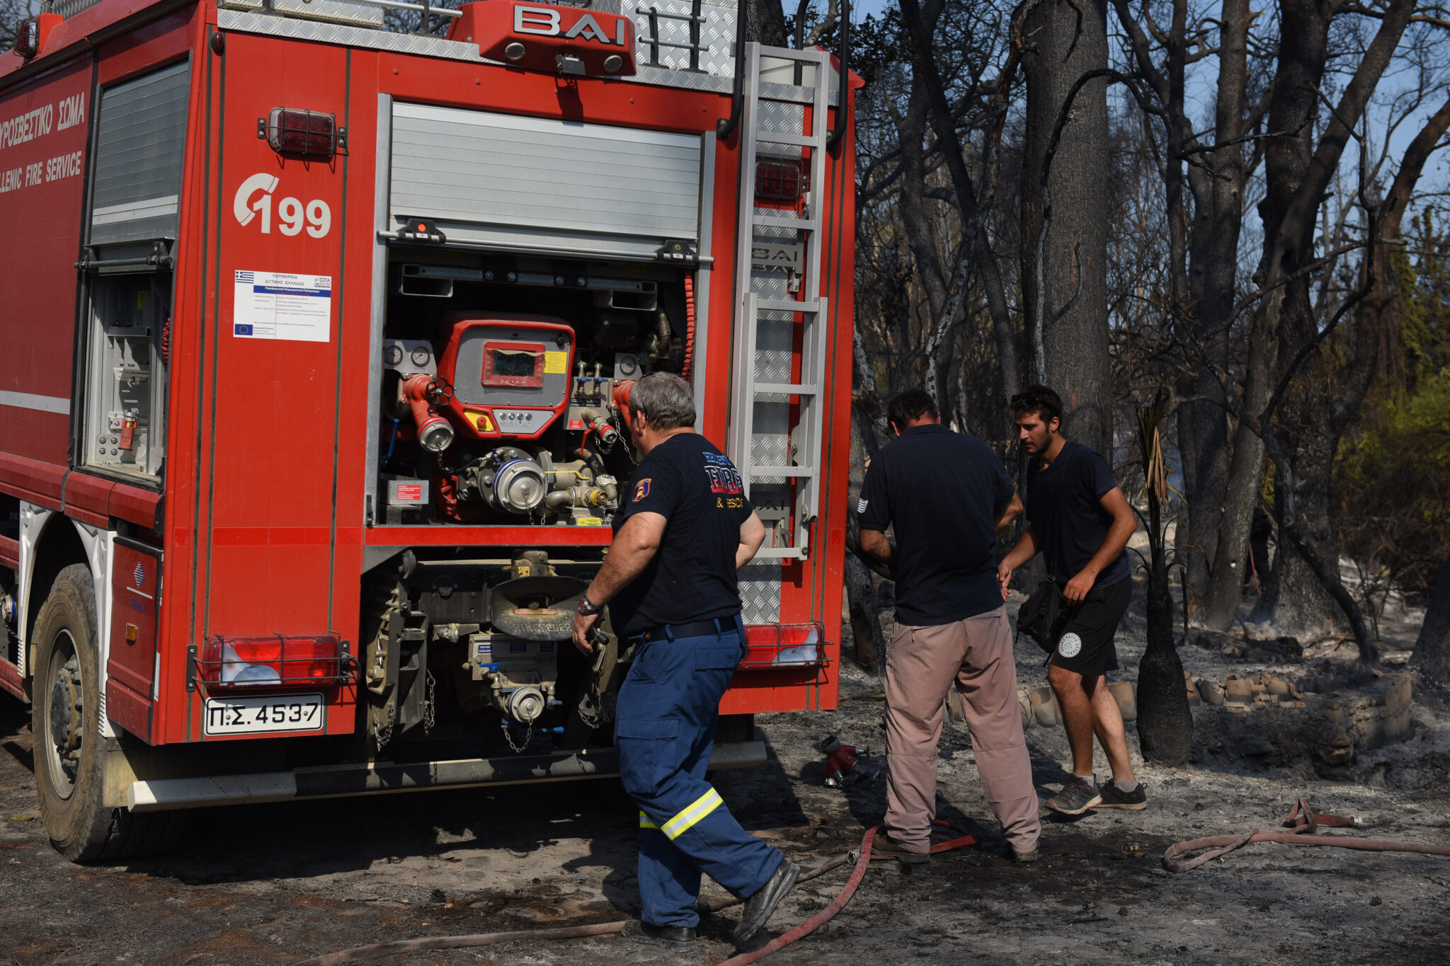
M 896 620 L 934 627 L 1002 607 L 996 514 L 1012 478 L 980 439 L 912 426 L 887 443 L 861 485 L 861 529 L 896 530 Z

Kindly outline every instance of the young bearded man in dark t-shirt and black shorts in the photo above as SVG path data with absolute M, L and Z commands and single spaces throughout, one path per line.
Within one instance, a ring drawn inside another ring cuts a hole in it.
M 1132 597 L 1124 547 L 1137 529 L 1132 508 L 1112 479 L 1108 462 L 1061 436 L 1063 401 L 1045 385 L 1012 397 L 1018 439 L 1034 458 L 1027 471 L 1027 518 L 1032 524 L 1002 559 L 1002 591 L 1012 571 L 1038 552 L 1048 579 L 1061 589 L 1064 610 L 1051 634 L 1047 681 L 1067 726 L 1073 775 L 1047 807 L 1067 815 L 1089 808 L 1147 808 L 1132 775 L 1122 713 L 1108 692 L 1108 672 L 1118 669 L 1112 639 Z M 1092 770 L 1093 733 L 1112 768 L 1101 789 Z

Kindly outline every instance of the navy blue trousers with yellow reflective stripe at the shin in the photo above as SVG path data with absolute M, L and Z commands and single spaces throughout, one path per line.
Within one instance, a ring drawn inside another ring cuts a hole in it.
M 741 828 L 705 781 L 741 640 L 726 631 L 641 644 L 619 689 L 615 746 L 639 807 L 639 898 L 652 925 L 699 924 L 702 873 L 748 896 L 780 865 L 780 850 Z

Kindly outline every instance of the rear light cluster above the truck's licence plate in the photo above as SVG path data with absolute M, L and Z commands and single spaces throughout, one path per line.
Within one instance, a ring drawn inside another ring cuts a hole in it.
M 202 646 L 199 678 L 209 691 L 325 686 L 348 679 L 345 644 L 332 634 L 213 636 Z

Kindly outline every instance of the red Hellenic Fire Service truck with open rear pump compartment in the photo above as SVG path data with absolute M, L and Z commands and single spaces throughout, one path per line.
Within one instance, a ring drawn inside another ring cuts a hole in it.
M 0 55 L 0 686 L 64 854 L 615 773 L 629 642 L 567 639 L 651 371 L 770 530 L 712 766 L 835 707 L 853 75 L 741 19 L 54 0 Z

